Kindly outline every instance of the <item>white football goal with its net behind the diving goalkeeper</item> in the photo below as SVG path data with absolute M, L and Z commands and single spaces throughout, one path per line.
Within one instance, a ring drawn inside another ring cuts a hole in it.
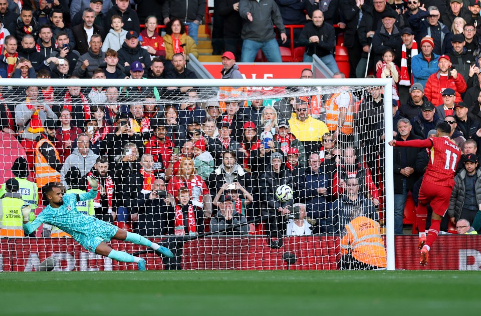
M 389 80 L 3 81 L 0 270 L 136 269 L 52 223 L 24 236 L 5 206 L 39 222 L 46 185 L 82 194 L 88 175 L 77 211 L 173 252 L 107 242 L 148 269 L 394 266 Z

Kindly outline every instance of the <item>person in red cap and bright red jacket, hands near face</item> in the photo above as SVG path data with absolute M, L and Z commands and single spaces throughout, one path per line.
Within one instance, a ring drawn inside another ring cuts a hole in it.
M 424 95 L 434 106 L 442 104 L 442 92 L 451 88 L 456 92 L 454 102 L 461 102 L 461 93 L 466 91 L 464 78 L 452 68 L 451 59 L 447 55 L 438 58 L 437 66 L 439 71 L 429 76 L 424 87 Z

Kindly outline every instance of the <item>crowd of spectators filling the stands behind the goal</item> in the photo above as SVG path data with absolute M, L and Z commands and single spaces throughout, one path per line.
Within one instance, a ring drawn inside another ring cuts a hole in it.
M 0 76 L 195 79 L 186 63 L 198 56 L 205 5 L 0 0 Z M 305 25 L 294 37 L 306 48 L 304 61 L 317 55 L 334 78 L 345 78 L 333 55 L 343 33 L 351 78 L 393 79 L 396 140 L 425 139 L 447 122 L 463 154 L 472 154 L 457 167 L 457 195 L 441 229 L 466 219 L 478 230 L 481 180 L 467 166 L 477 166 L 481 137 L 480 9 L 479 0 L 215 1 L 214 54 L 223 53 L 223 78 L 242 78 L 235 60 L 253 62 L 262 49 L 280 62 L 279 45 L 289 45 L 284 25 Z M 95 175 L 99 194 L 83 211 L 142 235 L 246 234 L 248 223 L 262 220 L 269 244 L 279 247 L 284 234 L 339 234 L 352 210 L 380 220 L 380 88 L 322 95 L 294 87 L 306 96 L 264 106 L 256 95 L 238 101 L 244 87 L 226 86 L 209 103 L 197 102 L 194 87 L 4 87 L 2 131 L 29 153 L 13 171 L 19 179 L 34 171 L 40 192 L 50 182 L 87 190 L 79 179 Z M 426 150 L 394 148 L 397 234 L 428 159 Z M 294 189 L 287 203 L 275 197 L 282 184 Z M 53 234 L 62 232 L 44 235 Z

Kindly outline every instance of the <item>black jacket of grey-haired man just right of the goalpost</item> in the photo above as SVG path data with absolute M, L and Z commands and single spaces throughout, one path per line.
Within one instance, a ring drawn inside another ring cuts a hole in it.
M 394 138 L 398 142 L 403 142 L 401 135 L 398 133 L 397 136 Z M 412 133 L 409 134 L 407 140 L 413 139 L 420 139 L 416 135 Z M 401 153 L 402 151 L 406 152 L 406 165 L 401 166 Z M 402 168 L 405 167 L 412 167 L 416 166 L 416 158 L 417 154 L 423 150 L 422 148 L 415 148 L 415 147 L 393 147 L 394 151 L 394 194 L 402 194 L 402 182 L 404 178 L 406 179 L 406 187 L 408 190 L 412 190 L 414 183 L 419 178 L 419 174 L 414 171 L 409 177 L 403 176 L 400 172 Z

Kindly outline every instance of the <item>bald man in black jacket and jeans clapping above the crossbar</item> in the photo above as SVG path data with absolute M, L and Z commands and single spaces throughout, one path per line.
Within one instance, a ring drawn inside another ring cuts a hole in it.
M 334 27 L 324 23 L 324 13 L 321 10 L 312 13 L 312 22 L 308 22 L 302 29 L 299 44 L 306 47 L 303 59 L 305 63 L 312 62 L 312 56 L 316 55 L 333 73 L 339 71 L 332 56 L 336 46 Z

